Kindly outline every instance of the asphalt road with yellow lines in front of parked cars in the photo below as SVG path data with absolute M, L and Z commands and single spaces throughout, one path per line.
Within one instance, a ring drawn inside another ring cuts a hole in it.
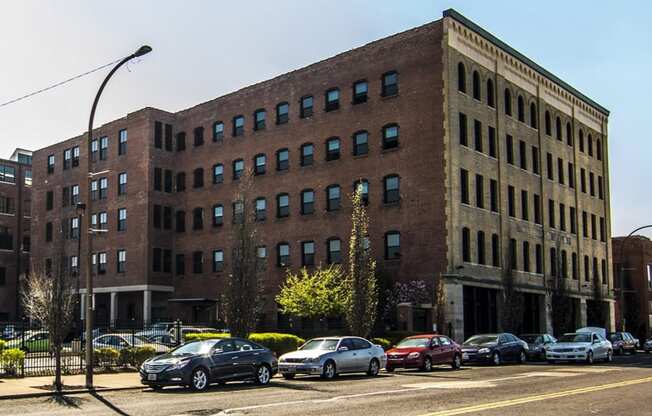
M 612 364 L 505 365 L 396 371 L 334 381 L 275 378 L 268 387 L 215 386 L 205 393 L 111 392 L 0 402 L 4 415 L 652 415 L 652 355 Z

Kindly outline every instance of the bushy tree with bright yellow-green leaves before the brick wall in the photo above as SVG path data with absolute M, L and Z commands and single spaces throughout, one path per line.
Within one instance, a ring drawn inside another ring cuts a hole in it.
M 285 283 L 276 296 L 281 312 L 299 318 L 327 318 L 344 312 L 346 292 L 342 268 L 332 264 L 313 272 L 305 267 L 298 273 L 288 270 Z

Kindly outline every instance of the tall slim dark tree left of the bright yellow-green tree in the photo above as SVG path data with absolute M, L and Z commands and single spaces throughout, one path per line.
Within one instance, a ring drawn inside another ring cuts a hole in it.
M 231 235 L 231 273 L 223 295 L 226 322 L 231 334 L 246 338 L 256 326 L 261 311 L 262 273 L 264 263 L 258 257 L 258 234 L 251 198 L 253 172 L 240 178 L 234 201 Z

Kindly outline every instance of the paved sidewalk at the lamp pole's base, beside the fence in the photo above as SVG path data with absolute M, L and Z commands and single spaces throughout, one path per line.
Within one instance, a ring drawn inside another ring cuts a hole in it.
M 85 380 L 86 376 L 84 374 L 63 376 L 64 393 L 86 392 Z M 51 385 L 53 381 L 54 376 L 0 378 L 0 400 L 52 395 L 53 391 L 46 390 L 43 386 Z M 96 391 L 128 390 L 145 387 L 140 384 L 140 376 L 137 372 L 96 374 L 93 377 L 93 384 Z

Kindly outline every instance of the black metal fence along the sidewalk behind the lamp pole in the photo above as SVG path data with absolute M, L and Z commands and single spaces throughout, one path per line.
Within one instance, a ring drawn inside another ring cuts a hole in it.
M 96 325 L 92 332 L 96 371 L 134 367 L 134 350 L 147 347 L 162 354 L 184 342 L 191 333 L 224 332 L 219 324 L 184 324 L 181 321 L 143 324 L 114 322 Z M 77 322 L 66 336 L 61 351 L 63 374 L 80 374 L 86 367 L 84 322 Z M 48 332 L 29 322 L 0 322 L 0 377 L 52 375 L 56 368 Z M 2 343 L 0 343 L 2 344 Z M 16 351 L 18 350 L 18 351 Z

